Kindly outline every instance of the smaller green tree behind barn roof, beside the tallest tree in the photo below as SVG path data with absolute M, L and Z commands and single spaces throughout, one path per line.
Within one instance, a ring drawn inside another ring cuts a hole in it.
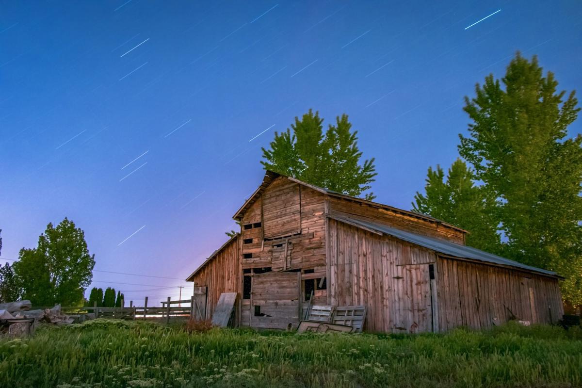
M 497 232 L 495 198 L 473 182 L 473 171 L 457 159 L 445 180 L 443 169 L 428 168 L 425 194 L 414 195 L 413 210 L 429 214 L 470 232 L 467 245 L 492 253 L 501 252 Z

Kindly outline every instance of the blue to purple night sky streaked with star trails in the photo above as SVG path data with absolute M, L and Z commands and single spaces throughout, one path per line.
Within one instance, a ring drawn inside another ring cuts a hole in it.
M 377 201 L 410 209 L 457 157 L 464 95 L 517 50 L 582 90 L 578 1 L 0 4 L 2 257 L 66 216 L 92 286 L 139 305 L 190 295 L 180 279 L 236 228 L 261 147 L 309 108 L 347 113 Z

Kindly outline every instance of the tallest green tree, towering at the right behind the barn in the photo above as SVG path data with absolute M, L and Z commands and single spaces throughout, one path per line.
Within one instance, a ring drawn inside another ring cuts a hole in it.
M 582 135 L 567 137 L 580 108 L 557 87 L 518 53 L 501 82 L 491 74 L 466 97 L 459 152 L 499 200 L 506 255 L 566 276 L 563 296 L 582 304 Z

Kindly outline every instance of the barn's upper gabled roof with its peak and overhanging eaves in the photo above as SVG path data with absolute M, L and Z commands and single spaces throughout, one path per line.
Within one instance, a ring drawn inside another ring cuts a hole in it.
M 254 193 L 250 196 L 250 198 L 244 202 L 242 207 L 240 207 L 240 209 L 237 210 L 237 212 L 235 213 L 234 216 L 232 216 L 232 218 L 233 219 L 241 219 L 244 212 L 246 212 L 251 207 L 251 205 L 253 205 L 254 202 L 257 201 L 257 199 L 262 195 L 262 193 L 269 186 L 269 184 L 271 184 L 272 181 L 274 181 L 275 178 L 277 178 L 279 176 L 285 177 L 289 180 L 292 180 L 296 183 L 299 183 L 301 186 L 309 187 L 315 191 L 319 191 L 322 194 L 330 195 L 331 197 L 342 198 L 344 200 L 360 202 L 362 204 L 367 204 L 367 205 L 371 205 L 374 207 L 379 207 L 382 209 L 393 211 L 395 213 L 400 213 L 403 215 L 412 216 L 412 217 L 419 218 L 419 219 L 424 219 L 424 220 L 427 220 L 430 222 L 439 223 L 443 226 L 450 227 L 451 229 L 456 229 L 456 230 L 460 230 L 461 232 L 464 232 L 464 233 L 469 233 L 469 232 L 467 232 L 467 230 L 464 230 L 458 226 L 455 226 L 455 225 L 452 225 L 450 223 L 444 222 L 442 220 L 433 218 L 433 217 L 425 215 L 423 213 L 417 213 L 417 212 L 413 212 L 413 211 L 403 210 L 403 209 L 395 208 L 395 207 L 392 207 L 389 205 L 379 204 L 378 202 L 372 202 L 372 201 L 363 200 L 362 198 L 352 197 L 351 195 L 346 195 L 346 194 L 338 193 L 337 191 L 329 190 L 329 189 L 324 188 L 324 187 L 315 186 L 314 184 L 310 184 L 310 183 L 301 181 L 299 179 L 296 179 L 296 178 L 293 178 L 290 176 L 281 175 L 279 173 L 269 171 L 269 170 L 267 170 L 267 172 L 265 172 L 265 177 L 262 179 L 261 185 L 257 188 L 257 190 L 254 191 Z

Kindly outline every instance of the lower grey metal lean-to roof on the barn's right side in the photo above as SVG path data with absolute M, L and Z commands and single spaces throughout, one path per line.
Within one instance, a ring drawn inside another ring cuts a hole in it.
M 348 218 L 345 216 L 334 215 L 329 216 L 329 218 L 347 223 L 352 226 L 360 227 L 361 229 L 368 230 L 369 232 L 372 233 L 388 234 L 389 236 L 396 237 L 397 239 L 404 240 L 412 244 L 420 245 L 421 247 L 428 248 L 435 252 L 439 252 L 443 255 L 448 255 L 462 259 L 470 259 L 472 261 L 485 262 L 487 264 L 493 264 L 497 266 L 509 266 L 513 268 L 527 270 L 528 272 L 542 273 L 543 275 L 558 276 L 555 272 L 541 268 L 536 268 L 530 265 L 521 264 L 520 262 L 506 259 L 501 256 L 491 254 L 489 252 L 481 251 L 478 250 L 477 248 L 468 247 L 467 245 L 456 244 L 446 240 L 434 239 L 432 237 L 407 232 L 406 230 L 395 229 L 393 227 L 381 225 L 379 223 Z

